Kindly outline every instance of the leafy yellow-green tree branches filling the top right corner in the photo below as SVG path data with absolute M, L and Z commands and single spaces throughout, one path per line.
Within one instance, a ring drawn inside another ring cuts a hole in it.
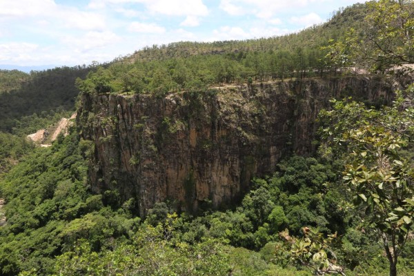
M 384 72 L 414 62 L 414 5 L 412 0 L 367 3 L 361 28 L 328 47 L 327 61 L 337 66 L 359 66 Z

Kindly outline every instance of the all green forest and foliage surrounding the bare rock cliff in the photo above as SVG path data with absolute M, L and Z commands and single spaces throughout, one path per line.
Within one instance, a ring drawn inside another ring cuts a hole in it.
M 110 63 L 0 72 L 0 275 L 413 275 L 414 86 L 385 106 L 333 99 L 317 152 L 294 152 L 253 178 L 239 204 L 197 213 L 92 193 L 92 141 L 78 126 L 37 148 L 88 95 L 155 99 L 227 84 L 341 78 L 413 79 L 412 1 L 357 4 L 296 34 L 152 46 Z M 359 71 L 360 74 L 362 71 Z M 411 81 L 412 83 L 412 81 Z

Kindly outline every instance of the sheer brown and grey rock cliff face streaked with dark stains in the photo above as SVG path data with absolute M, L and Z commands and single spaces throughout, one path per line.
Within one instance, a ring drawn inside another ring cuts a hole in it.
M 391 101 L 393 83 L 348 77 L 207 92 L 82 95 L 81 137 L 93 141 L 92 189 L 135 198 L 145 215 L 170 199 L 185 210 L 233 204 L 250 179 L 272 173 L 283 156 L 315 150 L 321 108 L 332 97 Z

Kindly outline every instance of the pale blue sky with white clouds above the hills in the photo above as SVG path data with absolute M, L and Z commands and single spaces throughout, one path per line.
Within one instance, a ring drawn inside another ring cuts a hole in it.
M 270 37 L 362 0 L 0 0 L 0 65 L 75 66 L 174 41 Z

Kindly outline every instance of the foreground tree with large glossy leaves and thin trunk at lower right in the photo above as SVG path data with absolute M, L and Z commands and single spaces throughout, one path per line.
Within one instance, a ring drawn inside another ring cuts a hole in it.
M 382 240 L 391 275 L 414 217 L 413 159 L 404 151 L 412 149 L 413 93 L 413 86 L 397 92 L 393 105 L 380 110 L 333 101 L 333 110 L 322 112 L 326 151 L 344 155 L 344 181 Z

